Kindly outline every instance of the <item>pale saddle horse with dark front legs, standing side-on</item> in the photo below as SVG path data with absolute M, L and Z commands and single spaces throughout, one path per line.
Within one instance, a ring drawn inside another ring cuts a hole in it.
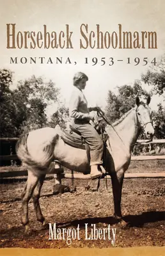
M 141 131 L 146 138 L 153 137 L 152 110 L 148 106 L 150 96 L 144 101 L 136 97 L 136 106 L 130 109 L 113 125 L 106 126 L 108 135 L 106 146 L 106 172 L 111 175 L 114 202 L 114 218 L 122 220 L 121 198 L 125 171 L 130 164 L 132 148 Z M 33 197 L 36 219 L 46 225 L 40 209 L 39 198 L 45 175 L 49 173 L 49 165 L 55 159 L 62 166 L 76 172 L 90 170 L 86 150 L 75 148 L 63 141 L 61 128 L 44 127 L 20 136 L 16 152 L 22 163 L 28 168 L 28 180 L 22 191 L 22 224 L 29 230 L 28 203 Z

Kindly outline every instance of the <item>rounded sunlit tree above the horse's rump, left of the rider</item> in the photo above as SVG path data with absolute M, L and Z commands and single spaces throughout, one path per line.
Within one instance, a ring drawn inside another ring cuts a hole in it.
M 19 81 L 13 98 L 17 109 L 19 132 L 29 132 L 47 125 L 47 106 L 58 102 L 59 88 L 51 80 L 45 82 L 42 77 L 32 76 Z

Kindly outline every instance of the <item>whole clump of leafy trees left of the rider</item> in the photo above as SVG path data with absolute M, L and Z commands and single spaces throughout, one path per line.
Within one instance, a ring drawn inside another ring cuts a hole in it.
M 1 85 L 1 136 L 19 137 L 22 132 L 29 132 L 47 125 L 60 124 L 65 127 L 68 109 L 59 102 L 59 88 L 51 80 L 32 76 L 19 81 L 15 90 L 10 90 L 12 72 L 0 70 Z M 54 104 L 58 111 L 47 119 L 47 107 Z

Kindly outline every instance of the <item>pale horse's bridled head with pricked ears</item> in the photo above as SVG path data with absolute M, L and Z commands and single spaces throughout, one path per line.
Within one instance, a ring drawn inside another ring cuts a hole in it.
M 145 131 L 146 137 L 148 139 L 153 138 L 154 129 L 152 125 L 152 110 L 148 106 L 150 104 L 150 96 L 148 96 L 146 103 L 140 102 L 139 97 L 136 97 L 136 114 L 138 118 L 139 125 L 141 125 L 141 128 L 143 131 Z

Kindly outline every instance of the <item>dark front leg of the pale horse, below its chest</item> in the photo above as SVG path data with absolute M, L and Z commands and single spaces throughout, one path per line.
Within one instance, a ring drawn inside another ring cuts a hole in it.
M 122 220 L 121 199 L 122 199 L 122 186 L 123 186 L 124 171 L 111 173 L 111 182 L 113 186 L 113 199 L 114 199 L 114 218 Z

